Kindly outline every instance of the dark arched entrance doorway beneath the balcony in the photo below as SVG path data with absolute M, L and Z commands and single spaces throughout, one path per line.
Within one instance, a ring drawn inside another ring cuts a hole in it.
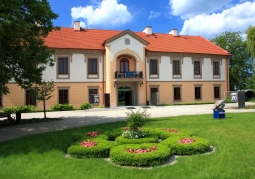
M 118 88 L 118 106 L 132 105 L 132 89 L 128 86 Z

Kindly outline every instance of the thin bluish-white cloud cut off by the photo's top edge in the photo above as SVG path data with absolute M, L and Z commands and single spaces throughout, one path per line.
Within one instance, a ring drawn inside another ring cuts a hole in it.
M 171 14 L 188 19 L 203 13 L 212 13 L 229 5 L 232 0 L 170 0 Z

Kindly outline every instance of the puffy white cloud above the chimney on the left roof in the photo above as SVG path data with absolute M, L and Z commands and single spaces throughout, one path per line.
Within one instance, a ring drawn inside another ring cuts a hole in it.
M 74 20 L 85 19 L 87 25 L 92 26 L 121 25 L 133 18 L 127 6 L 118 4 L 117 0 L 102 0 L 97 7 L 92 5 L 73 7 L 71 16 Z

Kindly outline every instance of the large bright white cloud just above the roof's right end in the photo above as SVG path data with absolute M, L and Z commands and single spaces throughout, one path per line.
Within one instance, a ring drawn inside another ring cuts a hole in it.
M 255 2 L 237 4 L 221 13 L 200 14 L 184 21 L 180 34 L 212 38 L 224 31 L 244 32 L 255 25 Z

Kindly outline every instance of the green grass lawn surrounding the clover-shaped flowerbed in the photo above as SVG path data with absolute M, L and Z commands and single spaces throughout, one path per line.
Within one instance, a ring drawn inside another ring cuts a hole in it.
M 255 178 L 254 113 L 154 118 L 146 127 L 192 131 L 216 147 L 211 154 L 177 158 L 177 163 L 152 169 L 120 168 L 104 159 L 65 158 L 67 148 L 90 131 L 124 127 L 124 122 L 99 124 L 27 136 L 0 143 L 1 178 Z

